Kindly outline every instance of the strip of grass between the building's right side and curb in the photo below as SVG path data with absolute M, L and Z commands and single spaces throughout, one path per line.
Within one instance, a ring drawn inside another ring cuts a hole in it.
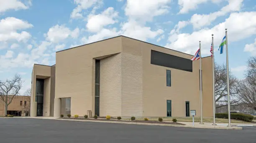
M 163 121 L 172 121 L 172 118 L 176 118 L 177 122 L 192 122 L 192 117 L 163 117 Z M 127 119 L 129 120 L 129 119 Z M 144 120 L 144 118 L 136 118 L 136 120 Z M 158 118 L 148 118 L 148 120 L 158 120 Z M 200 117 L 195 117 L 195 122 L 200 122 Z M 255 121 L 255 120 L 254 120 Z M 213 118 L 204 117 L 203 122 L 213 122 Z M 228 123 L 228 119 L 215 118 L 216 123 Z M 242 120 L 231 119 L 231 123 L 250 123 Z

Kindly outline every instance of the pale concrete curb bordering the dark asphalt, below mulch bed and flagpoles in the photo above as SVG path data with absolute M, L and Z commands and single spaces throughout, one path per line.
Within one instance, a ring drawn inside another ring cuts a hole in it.
M 119 124 L 133 124 L 133 125 L 158 125 L 158 126 L 172 126 L 182 128 L 208 128 L 208 129 L 226 129 L 226 130 L 242 130 L 242 127 L 232 126 L 192 126 L 192 125 L 172 125 L 172 124 L 158 124 L 158 123 L 137 123 L 137 122 L 116 122 L 106 120 L 74 120 L 74 119 L 59 119 L 59 118 L 46 118 L 51 120 L 69 120 L 69 121 L 83 121 L 83 122 L 97 122 L 97 123 L 119 123 Z

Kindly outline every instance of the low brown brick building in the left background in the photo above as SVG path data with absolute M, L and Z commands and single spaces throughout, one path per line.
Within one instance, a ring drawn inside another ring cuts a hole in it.
M 13 101 L 8 105 L 7 114 L 14 116 L 29 115 L 30 96 L 14 96 Z M 0 100 L 0 116 L 5 113 L 5 105 L 3 100 Z

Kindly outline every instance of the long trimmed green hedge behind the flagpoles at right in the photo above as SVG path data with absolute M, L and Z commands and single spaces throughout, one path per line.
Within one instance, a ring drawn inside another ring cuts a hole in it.
M 216 113 L 215 114 L 216 118 L 228 118 L 228 113 Z M 231 119 L 236 119 L 236 120 L 243 120 L 246 122 L 251 122 L 253 120 L 252 115 L 248 114 L 243 114 L 243 113 L 230 113 L 230 118 Z

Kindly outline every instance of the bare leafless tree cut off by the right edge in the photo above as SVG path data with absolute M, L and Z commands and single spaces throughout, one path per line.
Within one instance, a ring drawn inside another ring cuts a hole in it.
M 256 56 L 248 59 L 245 75 L 240 96 L 243 103 L 256 110 Z

